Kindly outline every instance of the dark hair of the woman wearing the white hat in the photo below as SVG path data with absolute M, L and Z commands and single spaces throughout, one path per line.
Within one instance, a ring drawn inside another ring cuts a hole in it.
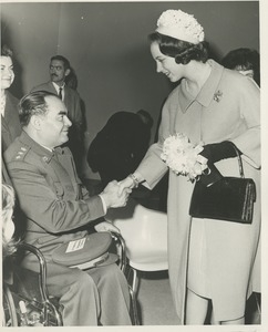
M 208 43 L 205 41 L 193 44 L 158 32 L 151 33 L 148 39 L 159 44 L 163 54 L 175 58 L 176 63 L 187 64 L 190 60 L 205 63 L 208 59 Z

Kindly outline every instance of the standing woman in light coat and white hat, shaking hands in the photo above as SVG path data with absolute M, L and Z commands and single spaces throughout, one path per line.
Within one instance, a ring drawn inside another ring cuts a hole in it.
M 168 263 L 176 312 L 182 324 L 204 324 L 209 301 L 215 324 L 244 324 L 246 300 L 259 289 L 257 258 L 260 235 L 260 107 L 259 87 L 246 76 L 208 59 L 202 25 L 181 10 L 167 10 L 151 35 L 151 53 L 158 73 L 181 81 L 162 114 L 158 142 L 133 175 L 121 183 L 153 188 L 168 170 L 161 158 L 163 143 L 176 133 L 205 144 L 203 156 L 212 173 L 239 176 L 234 148 L 239 149 L 245 176 L 257 187 L 250 225 L 192 218 L 194 183 L 169 170 Z M 218 170 L 218 172 L 217 172 Z

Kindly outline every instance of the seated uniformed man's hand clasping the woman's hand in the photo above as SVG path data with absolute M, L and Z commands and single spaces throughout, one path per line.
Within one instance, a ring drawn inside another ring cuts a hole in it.
M 121 193 L 120 185 L 116 180 L 113 180 L 107 184 L 104 190 L 101 193 L 102 198 L 105 200 L 107 208 L 116 208 L 125 206 L 128 199 L 128 196 L 132 191 L 131 188 L 124 188 Z

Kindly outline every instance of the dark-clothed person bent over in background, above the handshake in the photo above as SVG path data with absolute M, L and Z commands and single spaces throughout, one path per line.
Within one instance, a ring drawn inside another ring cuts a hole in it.
M 144 110 L 117 112 L 109 118 L 87 152 L 87 163 L 99 172 L 103 186 L 136 169 L 148 148 L 152 125 L 153 118 Z

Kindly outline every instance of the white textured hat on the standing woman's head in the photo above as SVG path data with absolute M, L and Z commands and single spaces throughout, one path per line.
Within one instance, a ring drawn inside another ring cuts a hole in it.
M 164 11 L 157 20 L 156 31 L 193 44 L 198 44 L 205 39 L 203 27 L 194 15 L 182 10 Z

